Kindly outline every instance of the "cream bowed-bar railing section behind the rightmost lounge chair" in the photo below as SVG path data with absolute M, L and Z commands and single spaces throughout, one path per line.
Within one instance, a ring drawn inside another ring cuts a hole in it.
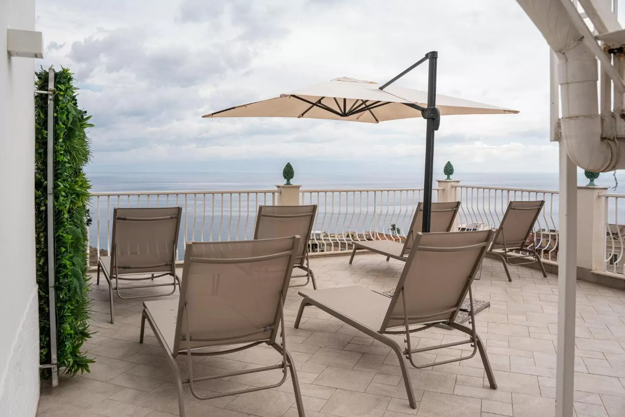
M 544 207 L 532 231 L 533 244 L 541 258 L 557 261 L 557 191 L 473 185 L 456 185 L 454 188 L 457 199 L 462 201 L 458 213 L 458 226 L 461 230 L 496 229 L 510 201 L 544 200 Z

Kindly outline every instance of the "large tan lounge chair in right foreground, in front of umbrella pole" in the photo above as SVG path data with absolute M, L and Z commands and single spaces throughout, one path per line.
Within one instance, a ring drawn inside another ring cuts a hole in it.
M 476 333 L 471 292 L 471 283 L 492 236 L 494 230 L 416 233 L 412 249 L 406 259 L 406 266 L 392 298 L 360 286 L 317 289 L 317 291 L 304 289 L 299 291 L 304 299 L 299 306 L 295 327 L 299 326 L 304 307 L 312 305 L 389 346 L 399 359 L 408 401 L 412 408 L 416 408 L 416 401 L 404 355 L 415 368 L 427 368 L 470 359 L 479 350 L 490 386 L 496 389 L 497 384 L 486 356 L 486 348 Z M 471 304 L 469 311 L 471 328 L 455 321 L 467 293 Z M 412 349 L 410 333 L 440 323 L 468 334 L 469 338 Z M 405 336 L 406 349 L 401 349 L 395 339 L 387 336 L 389 334 Z M 472 351 L 469 351 L 470 353 L 463 351 L 466 355 L 460 358 L 428 364 L 416 364 L 412 358 L 414 353 L 467 343 L 471 343 Z

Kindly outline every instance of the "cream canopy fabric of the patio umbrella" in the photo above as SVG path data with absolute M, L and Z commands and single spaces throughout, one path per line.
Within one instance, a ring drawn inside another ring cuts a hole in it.
M 206 114 L 203 118 L 310 118 L 379 123 L 386 120 L 421 118 L 414 107 L 427 106 L 427 93 L 353 78 L 335 78 L 326 83 L 280 94 L 279 97 L 242 104 Z M 436 95 L 441 116 L 447 114 L 519 113 L 490 104 Z

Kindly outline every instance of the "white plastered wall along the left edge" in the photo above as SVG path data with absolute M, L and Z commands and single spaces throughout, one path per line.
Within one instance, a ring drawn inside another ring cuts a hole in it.
M 6 29 L 34 30 L 34 0 L 0 0 L 0 416 L 34 416 L 39 325 L 34 253 L 36 61 L 11 58 Z

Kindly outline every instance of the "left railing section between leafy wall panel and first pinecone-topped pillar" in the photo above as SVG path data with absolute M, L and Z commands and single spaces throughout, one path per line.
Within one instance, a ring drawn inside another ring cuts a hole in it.
M 111 248 L 113 209 L 116 207 L 172 207 L 183 208 L 178 238 L 178 258 L 183 259 L 186 241 L 225 241 L 251 239 L 254 233 L 259 204 L 276 204 L 278 191 L 146 191 L 140 193 L 91 194 L 91 226 L 88 228 L 90 245 L 100 249 Z M 92 263 L 92 266 L 93 263 Z

